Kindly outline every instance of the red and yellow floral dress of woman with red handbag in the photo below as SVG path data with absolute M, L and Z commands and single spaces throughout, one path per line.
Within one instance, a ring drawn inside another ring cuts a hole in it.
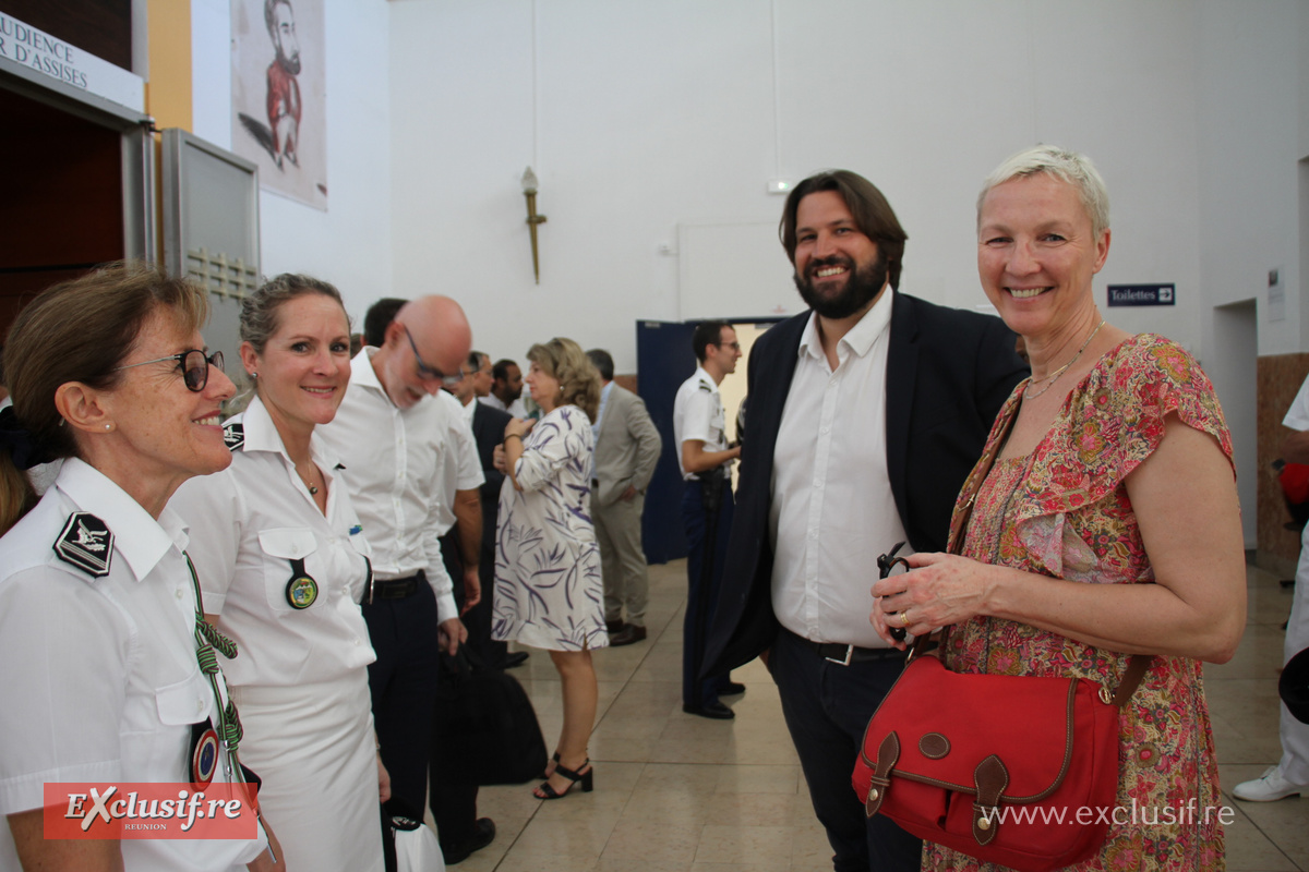
M 1170 413 L 1213 435 L 1230 460 L 1213 386 L 1178 345 L 1151 333 L 1130 337 L 1068 395 L 1030 455 L 996 461 L 1026 384 L 1000 409 L 963 485 L 952 550 L 962 537 L 962 553 L 983 563 L 1086 584 L 1152 583 L 1124 480 L 1158 447 Z M 1118 686 L 1130 659 L 990 617 L 950 628 L 944 656 L 956 672 L 1071 675 L 1109 688 Z M 1221 804 L 1200 663 L 1157 656 L 1121 716 L 1117 805 L 1124 811 L 1115 812 L 1101 852 L 1073 868 L 1221 869 Z M 928 842 L 923 868 L 997 867 Z

